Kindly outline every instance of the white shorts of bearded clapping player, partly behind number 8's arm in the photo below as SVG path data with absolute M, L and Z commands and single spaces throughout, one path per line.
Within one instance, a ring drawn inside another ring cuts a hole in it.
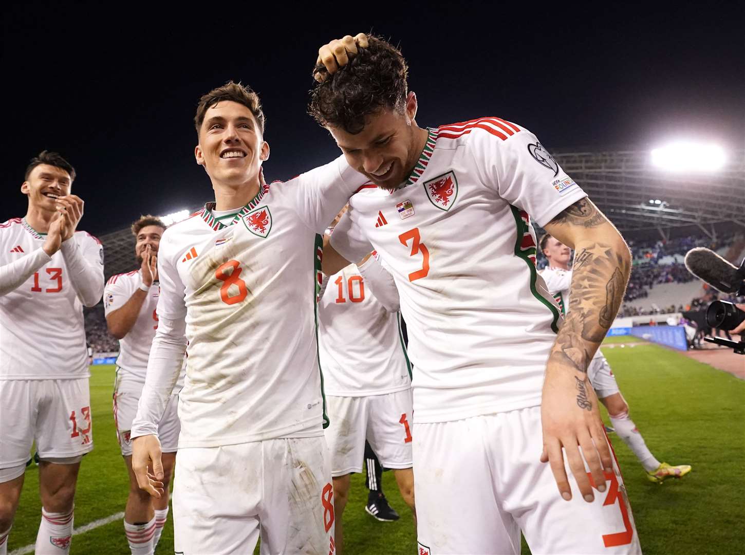
M 144 384 L 133 380 L 124 372 L 117 372 L 114 384 L 114 422 L 116 425 L 116 439 L 121 448 L 121 454 L 127 457 L 132 454 L 132 440 L 130 430 L 132 422 L 137 414 L 137 404 L 142 395 Z M 179 434 L 181 422 L 178 415 L 179 396 L 178 393 L 171 395 L 165 412 L 158 423 L 158 439 L 160 448 L 164 453 L 175 453 L 179 446 Z

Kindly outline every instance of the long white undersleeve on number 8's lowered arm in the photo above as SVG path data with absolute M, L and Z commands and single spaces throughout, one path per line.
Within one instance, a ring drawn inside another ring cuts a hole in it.
M 158 329 L 153 338 L 148 358 L 145 387 L 132 423 L 131 437 L 157 434 L 158 422 L 171 397 L 186 352 L 186 303 L 184 285 L 175 265 L 168 256 L 168 231 L 161 239 L 158 256 Z

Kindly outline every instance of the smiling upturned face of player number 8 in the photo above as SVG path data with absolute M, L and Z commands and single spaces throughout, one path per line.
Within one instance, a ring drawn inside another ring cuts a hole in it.
M 269 145 L 251 110 L 238 102 L 219 101 L 205 112 L 194 156 L 213 185 L 237 188 L 259 179 Z

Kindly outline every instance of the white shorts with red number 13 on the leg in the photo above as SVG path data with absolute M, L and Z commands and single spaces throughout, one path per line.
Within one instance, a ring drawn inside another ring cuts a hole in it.
M 88 378 L 0 380 L 0 469 L 13 469 L 0 481 L 23 474 L 34 441 L 41 460 L 88 453 L 91 417 Z

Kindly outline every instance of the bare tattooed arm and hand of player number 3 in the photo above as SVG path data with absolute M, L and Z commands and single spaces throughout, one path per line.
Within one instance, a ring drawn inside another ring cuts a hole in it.
M 541 460 L 551 463 L 559 492 L 570 499 L 563 447 L 580 493 L 592 501 L 583 456 L 600 492 L 605 491 L 603 470 L 612 472 L 612 458 L 587 367 L 624 298 L 631 254 L 618 230 L 587 198 L 568 206 L 545 229 L 573 247 L 575 255 L 568 315 L 546 367 Z

